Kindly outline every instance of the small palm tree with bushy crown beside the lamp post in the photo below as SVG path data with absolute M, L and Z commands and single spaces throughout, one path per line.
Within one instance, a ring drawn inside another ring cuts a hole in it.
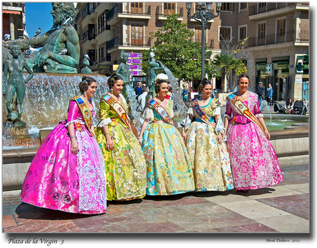
M 232 72 L 235 61 L 236 58 L 231 54 L 216 54 L 214 56 L 212 64 L 221 69 L 221 92 L 225 92 L 225 76 Z

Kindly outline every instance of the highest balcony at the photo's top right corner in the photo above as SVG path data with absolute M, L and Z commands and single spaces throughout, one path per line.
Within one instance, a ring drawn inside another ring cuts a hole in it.
M 258 4 L 249 5 L 249 19 L 260 19 L 282 14 L 296 9 L 309 10 L 309 3 L 267 3 L 259 7 Z

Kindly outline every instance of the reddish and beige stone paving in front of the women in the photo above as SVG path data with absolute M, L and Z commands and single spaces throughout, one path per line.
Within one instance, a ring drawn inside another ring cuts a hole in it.
M 4 233 L 309 234 L 309 166 L 282 167 L 279 185 L 108 201 L 101 215 L 68 214 L 3 199 Z

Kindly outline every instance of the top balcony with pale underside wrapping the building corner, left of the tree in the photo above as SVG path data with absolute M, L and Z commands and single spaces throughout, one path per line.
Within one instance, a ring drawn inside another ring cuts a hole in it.
M 130 3 L 128 3 L 130 4 Z M 129 6 L 127 6 L 129 9 Z M 111 10 L 107 12 L 107 24 L 114 25 L 121 18 L 129 18 L 129 19 L 151 19 L 151 6 L 147 8 L 143 8 L 145 12 L 139 13 L 136 11 L 123 10 L 122 3 L 116 4 Z

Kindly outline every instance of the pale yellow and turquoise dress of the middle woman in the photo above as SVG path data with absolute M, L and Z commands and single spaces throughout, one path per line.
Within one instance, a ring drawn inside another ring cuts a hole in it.
M 164 109 L 172 118 L 173 102 L 165 101 Z M 147 125 L 142 140 L 147 165 L 146 194 L 157 196 L 194 191 L 192 165 L 181 134 L 174 125 L 163 121 L 150 105 L 145 107 L 143 118 L 152 121 Z

